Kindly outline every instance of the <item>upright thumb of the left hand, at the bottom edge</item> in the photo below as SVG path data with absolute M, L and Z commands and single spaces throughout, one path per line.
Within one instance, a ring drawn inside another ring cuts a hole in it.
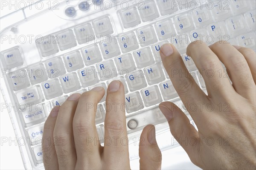
M 144 127 L 140 136 L 140 170 L 160 170 L 162 154 L 157 145 L 156 131 L 153 125 Z

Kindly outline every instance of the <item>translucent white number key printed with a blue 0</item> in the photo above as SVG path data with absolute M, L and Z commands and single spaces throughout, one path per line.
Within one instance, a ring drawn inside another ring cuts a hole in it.
M 212 17 L 209 14 L 209 9 L 197 9 L 192 11 L 192 17 L 195 21 L 195 26 L 201 27 L 212 22 Z

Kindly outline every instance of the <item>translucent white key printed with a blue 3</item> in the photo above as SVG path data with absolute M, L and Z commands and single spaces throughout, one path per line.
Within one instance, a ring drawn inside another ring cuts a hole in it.
M 83 59 L 79 51 L 73 51 L 65 54 L 63 59 L 68 72 L 84 67 Z

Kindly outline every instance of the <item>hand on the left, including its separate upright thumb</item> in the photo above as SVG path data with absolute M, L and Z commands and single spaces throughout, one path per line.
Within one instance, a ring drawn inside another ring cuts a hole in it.
M 124 86 L 119 81 L 108 86 L 105 144 L 102 147 L 96 131 L 95 114 L 104 94 L 101 87 L 81 95 L 72 94 L 61 107 L 52 109 L 44 124 L 42 149 L 45 169 L 130 169 Z M 153 125 L 143 129 L 142 138 L 140 169 L 160 169 L 161 152 Z

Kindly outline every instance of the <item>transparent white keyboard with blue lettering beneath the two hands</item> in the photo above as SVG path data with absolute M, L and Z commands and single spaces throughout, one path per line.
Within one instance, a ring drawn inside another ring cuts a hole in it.
M 102 9 L 107 1 L 65 1 L 58 10 L 39 11 L 1 33 L 33 35 L 25 43 L 6 41 L 1 35 L 1 89 L 10 104 L 15 133 L 27 141 L 20 147 L 27 169 L 43 166 L 40 144 L 51 108 L 73 93 L 96 86 L 106 90 L 113 80 L 125 86 L 130 139 L 148 124 L 157 125 L 159 135 L 168 130 L 158 105 L 181 102 L 163 69 L 161 45 L 176 46 L 203 90 L 204 80 L 186 55 L 190 42 L 203 40 L 210 45 L 225 40 L 256 50 L 255 0 L 108 1 L 112 8 Z M 105 97 L 96 111 L 97 131 L 103 138 Z M 130 154 L 131 159 L 137 156 Z

